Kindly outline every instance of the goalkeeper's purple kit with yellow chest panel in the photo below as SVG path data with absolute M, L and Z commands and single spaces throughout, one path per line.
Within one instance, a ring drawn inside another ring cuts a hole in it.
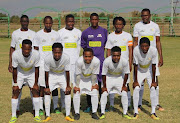
M 96 56 L 100 60 L 101 65 L 100 72 L 98 75 L 98 81 L 102 80 L 101 73 L 104 61 L 104 48 L 107 41 L 107 34 L 107 30 L 99 26 L 97 29 L 89 27 L 86 30 L 84 30 L 81 35 L 81 47 L 83 49 L 93 49 L 94 56 Z

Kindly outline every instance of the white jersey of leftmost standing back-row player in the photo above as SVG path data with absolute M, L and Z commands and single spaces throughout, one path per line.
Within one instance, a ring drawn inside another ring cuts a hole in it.
M 11 47 L 15 48 L 16 50 L 21 49 L 22 41 L 24 39 L 31 40 L 33 44 L 33 39 L 34 39 L 35 34 L 36 33 L 30 29 L 28 29 L 27 31 L 21 31 L 21 29 L 15 30 L 12 33 Z

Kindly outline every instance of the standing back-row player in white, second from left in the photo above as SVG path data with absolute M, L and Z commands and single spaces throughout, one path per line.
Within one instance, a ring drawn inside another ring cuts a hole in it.
M 38 31 L 34 38 L 34 47 L 39 50 L 40 53 L 40 73 L 39 73 L 39 85 L 40 85 L 40 115 L 43 115 L 43 98 L 45 87 L 44 76 L 44 58 L 52 53 L 52 45 L 54 42 L 59 41 L 59 34 L 52 29 L 53 19 L 51 16 L 44 18 L 44 29 Z

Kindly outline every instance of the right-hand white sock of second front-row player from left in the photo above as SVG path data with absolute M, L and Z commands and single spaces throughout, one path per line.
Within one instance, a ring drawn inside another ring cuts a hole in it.
M 65 109 L 66 109 L 66 116 L 69 116 L 71 111 L 71 94 L 65 95 Z

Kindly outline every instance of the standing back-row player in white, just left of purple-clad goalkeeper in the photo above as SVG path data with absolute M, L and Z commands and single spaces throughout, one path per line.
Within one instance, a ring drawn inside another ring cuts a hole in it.
M 74 27 L 74 16 L 69 14 L 65 19 L 66 27 L 58 31 L 60 35 L 60 42 L 63 45 L 63 52 L 68 54 L 70 57 L 70 82 L 75 82 L 75 63 L 79 58 L 81 50 L 81 31 Z M 56 98 L 56 99 L 54 99 Z M 58 96 L 54 95 L 53 102 L 54 109 L 57 108 Z M 55 107 L 56 106 L 56 107 Z M 61 89 L 61 109 L 64 108 L 64 92 Z

